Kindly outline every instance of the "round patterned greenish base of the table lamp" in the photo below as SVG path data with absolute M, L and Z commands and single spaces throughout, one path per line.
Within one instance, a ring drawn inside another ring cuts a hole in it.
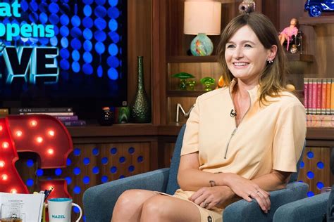
M 192 39 L 192 43 L 190 44 L 190 51 L 194 56 L 206 56 L 211 55 L 212 51 L 214 51 L 214 44 L 211 39 L 206 36 L 204 33 L 199 33 L 197 37 Z

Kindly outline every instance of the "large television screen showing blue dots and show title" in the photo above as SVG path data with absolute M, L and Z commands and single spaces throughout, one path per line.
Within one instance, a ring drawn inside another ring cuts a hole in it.
M 2 107 L 127 105 L 125 0 L 0 3 Z

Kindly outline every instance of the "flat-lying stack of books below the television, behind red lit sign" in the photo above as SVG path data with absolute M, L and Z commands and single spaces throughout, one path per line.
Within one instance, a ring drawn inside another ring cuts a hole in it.
M 51 115 L 59 119 L 65 126 L 85 126 L 85 120 L 80 120 L 75 115 L 72 107 L 32 107 L 32 108 L 11 108 L 11 114 L 16 115 L 32 115 L 44 114 Z

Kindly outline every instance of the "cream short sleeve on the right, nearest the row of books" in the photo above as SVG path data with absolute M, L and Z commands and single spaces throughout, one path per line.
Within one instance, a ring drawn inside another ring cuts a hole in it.
M 306 136 L 304 106 L 290 103 L 280 112 L 273 139 L 273 169 L 296 172 Z

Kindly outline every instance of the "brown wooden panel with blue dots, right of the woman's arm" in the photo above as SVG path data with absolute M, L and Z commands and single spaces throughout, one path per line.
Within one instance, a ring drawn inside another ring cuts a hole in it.
M 298 181 L 309 184 L 309 192 L 320 193 L 319 184 L 331 186 L 330 182 L 330 148 L 310 148 L 304 150 Z M 323 168 L 322 168 L 322 164 Z M 321 187 L 320 187 L 321 188 Z

